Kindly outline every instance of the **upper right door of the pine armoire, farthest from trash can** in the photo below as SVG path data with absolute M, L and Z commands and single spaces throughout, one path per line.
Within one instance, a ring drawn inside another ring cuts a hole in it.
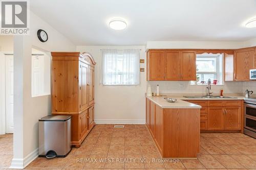
M 94 67 L 89 66 L 88 76 L 89 105 L 94 103 Z

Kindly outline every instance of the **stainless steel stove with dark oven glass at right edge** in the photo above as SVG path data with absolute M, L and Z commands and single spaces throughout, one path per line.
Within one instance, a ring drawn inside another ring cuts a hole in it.
M 256 138 L 256 98 L 244 98 L 244 134 Z

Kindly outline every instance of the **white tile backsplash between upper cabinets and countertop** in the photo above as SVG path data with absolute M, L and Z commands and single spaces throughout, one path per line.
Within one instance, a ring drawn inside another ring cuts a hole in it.
M 148 81 L 147 86 L 151 86 L 152 91 L 156 92 L 156 86 L 159 85 L 161 93 L 206 93 L 206 85 L 190 85 L 186 81 Z M 244 93 L 246 89 L 256 93 L 256 82 L 224 82 L 224 85 L 212 85 L 211 91 L 214 94 L 220 94 L 223 89 L 225 93 Z

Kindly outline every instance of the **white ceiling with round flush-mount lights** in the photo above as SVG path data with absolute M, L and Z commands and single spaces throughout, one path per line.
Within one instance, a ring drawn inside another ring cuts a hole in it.
M 30 8 L 76 45 L 142 45 L 146 41 L 245 41 L 256 28 L 256 0 L 33 0 Z M 108 21 L 120 17 L 127 28 Z

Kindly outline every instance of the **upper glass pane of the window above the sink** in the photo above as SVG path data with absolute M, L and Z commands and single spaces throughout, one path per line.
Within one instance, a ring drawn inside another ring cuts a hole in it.
M 216 72 L 217 58 L 216 57 L 197 57 L 197 71 L 199 72 Z

